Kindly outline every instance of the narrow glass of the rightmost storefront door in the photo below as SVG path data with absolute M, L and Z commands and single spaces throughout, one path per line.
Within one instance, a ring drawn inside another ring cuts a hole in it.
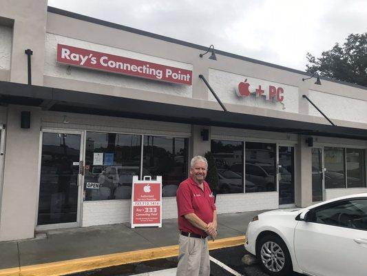
M 324 200 L 324 165 L 322 148 L 312 149 L 312 201 Z

